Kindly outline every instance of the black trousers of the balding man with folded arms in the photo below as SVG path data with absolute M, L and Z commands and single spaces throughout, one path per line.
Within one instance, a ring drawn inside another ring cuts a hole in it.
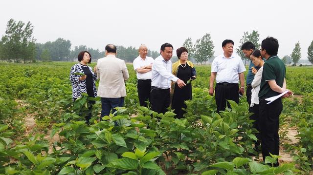
M 145 101 L 150 101 L 151 79 L 138 79 L 137 90 L 140 106 L 148 107 Z

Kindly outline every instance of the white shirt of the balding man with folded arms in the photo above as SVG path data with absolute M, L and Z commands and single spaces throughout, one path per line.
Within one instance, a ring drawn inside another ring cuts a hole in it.
M 141 66 L 147 66 L 152 64 L 154 61 L 153 58 L 151 57 L 146 57 L 145 59 L 142 59 L 140 56 L 134 59 L 133 61 L 133 66 L 134 70 L 137 68 L 140 68 Z M 136 71 L 137 79 L 151 79 L 151 71 L 146 72 L 146 73 L 139 73 Z

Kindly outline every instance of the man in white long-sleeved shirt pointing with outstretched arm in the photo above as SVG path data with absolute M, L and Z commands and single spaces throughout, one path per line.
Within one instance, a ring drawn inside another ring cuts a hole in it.
M 152 65 L 150 100 L 152 110 L 164 114 L 171 103 L 171 81 L 177 82 L 180 88 L 186 84 L 172 74 L 172 61 L 170 60 L 173 56 L 172 44 L 162 44 L 160 54 Z

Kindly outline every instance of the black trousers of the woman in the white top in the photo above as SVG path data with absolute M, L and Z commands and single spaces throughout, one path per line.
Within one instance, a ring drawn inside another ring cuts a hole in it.
M 254 148 L 256 151 L 259 151 L 258 146 L 261 144 L 261 132 L 260 132 L 260 127 L 259 127 L 259 116 L 260 116 L 260 111 L 259 111 L 260 105 L 254 104 L 253 107 L 249 107 L 249 112 L 254 113 L 252 116 L 250 116 L 251 120 L 255 120 L 253 122 L 252 127 L 257 129 L 259 133 L 256 133 L 255 136 L 258 139 L 257 141 L 254 141 Z

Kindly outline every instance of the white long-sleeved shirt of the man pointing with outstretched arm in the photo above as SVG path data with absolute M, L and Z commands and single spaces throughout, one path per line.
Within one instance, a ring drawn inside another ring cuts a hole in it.
M 161 89 L 169 89 L 171 87 L 171 80 L 177 81 L 179 78 L 172 74 L 172 61 L 165 61 L 160 55 L 152 64 L 151 86 Z

